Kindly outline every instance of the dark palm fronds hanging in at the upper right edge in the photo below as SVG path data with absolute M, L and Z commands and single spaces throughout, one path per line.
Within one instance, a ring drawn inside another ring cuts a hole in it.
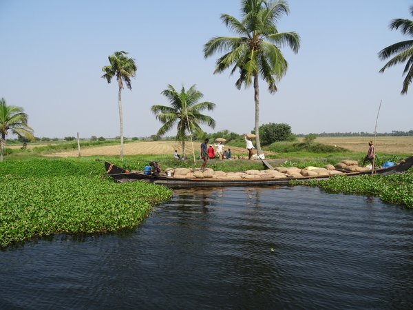
M 410 14 L 413 15 L 413 6 L 410 6 Z M 398 30 L 400 28 L 402 34 L 413 37 L 413 21 L 410 21 L 410 19 L 393 19 L 390 22 L 389 28 L 390 30 Z M 401 41 L 387 48 L 383 48 L 383 50 L 379 52 L 379 59 L 383 61 L 393 55 L 395 56 L 390 59 L 379 72 L 383 73 L 387 68 L 407 61 L 403 70 L 403 75 L 406 74 L 406 77 L 403 81 L 403 89 L 401 90 L 401 94 L 407 94 L 407 90 L 413 79 L 413 40 Z

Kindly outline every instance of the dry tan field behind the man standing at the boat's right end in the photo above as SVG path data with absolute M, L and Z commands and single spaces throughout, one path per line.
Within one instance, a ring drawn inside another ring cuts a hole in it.
M 320 137 L 315 142 L 345 147 L 352 152 L 367 152 L 368 141 L 374 137 Z M 375 141 L 376 152 L 385 154 L 413 154 L 413 136 L 378 136 Z

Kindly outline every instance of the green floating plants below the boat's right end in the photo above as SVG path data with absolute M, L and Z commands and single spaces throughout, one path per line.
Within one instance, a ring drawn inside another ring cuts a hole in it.
M 385 203 L 413 207 L 413 171 L 390 176 L 334 176 L 328 180 L 290 182 L 291 185 L 317 186 L 328 192 L 379 196 Z

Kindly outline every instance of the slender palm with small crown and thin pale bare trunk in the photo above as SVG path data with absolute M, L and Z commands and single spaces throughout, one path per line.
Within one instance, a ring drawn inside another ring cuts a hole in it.
M 110 65 L 104 65 L 102 71 L 105 72 L 102 78 L 107 80 L 107 83 L 112 81 L 112 78 L 116 76 L 118 81 L 118 106 L 119 106 L 119 119 L 120 119 L 120 158 L 123 158 L 123 113 L 122 113 L 122 90 L 123 82 L 129 90 L 132 89 L 131 78 L 135 77 L 136 70 L 138 69 L 135 64 L 135 59 L 125 56 L 128 52 L 114 52 L 109 56 Z

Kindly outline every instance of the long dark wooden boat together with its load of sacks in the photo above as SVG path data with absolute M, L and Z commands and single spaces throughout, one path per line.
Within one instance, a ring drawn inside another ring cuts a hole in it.
M 157 163 L 155 163 L 156 166 Z M 413 165 L 413 156 L 391 167 L 374 169 L 374 174 L 401 174 Z M 357 161 L 342 161 L 337 165 L 324 168 L 275 167 L 266 170 L 247 170 L 245 172 L 222 172 L 207 168 L 204 172 L 193 168 L 168 168 L 160 174 L 128 171 L 112 163 L 105 162 L 107 176 L 112 176 L 120 183 L 143 180 L 169 187 L 180 186 L 248 186 L 248 185 L 285 185 L 290 180 L 323 179 L 337 174 L 359 176 L 372 174 L 372 169 L 360 167 Z

